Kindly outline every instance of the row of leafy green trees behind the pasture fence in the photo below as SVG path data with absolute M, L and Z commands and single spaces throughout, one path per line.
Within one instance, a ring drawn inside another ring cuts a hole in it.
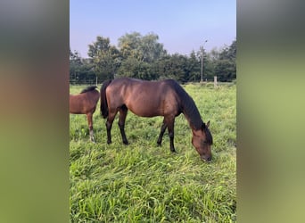
M 120 37 L 116 47 L 109 37 L 98 36 L 88 45 L 86 59 L 70 49 L 70 83 L 95 83 L 96 78 L 102 82 L 117 77 L 175 78 L 180 83 L 212 80 L 214 76 L 223 82 L 236 78 L 236 40 L 221 50 L 207 53 L 201 47 L 189 55 L 169 54 L 158 40 L 153 33 L 142 36 L 133 32 Z

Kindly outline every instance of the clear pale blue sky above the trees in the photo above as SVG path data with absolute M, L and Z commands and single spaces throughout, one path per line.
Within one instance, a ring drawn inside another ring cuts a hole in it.
M 86 58 L 97 36 L 153 33 L 169 54 L 189 55 L 203 45 L 209 52 L 236 38 L 233 0 L 70 0 L 70 49 Z M 205 40 L 208 40 L 205 42 Z

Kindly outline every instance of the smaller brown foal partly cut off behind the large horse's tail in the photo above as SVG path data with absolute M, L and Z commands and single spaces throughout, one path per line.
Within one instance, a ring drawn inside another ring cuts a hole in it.
M 100 98 L 100 93 L 95 88 L 96 86 L 90 86 L 82 90 L 78 95 L 70 95 L 70 113 L 87 115 L 90 140 L 92 142 L 95 142 L 92 116 L 95 112 L 96 103 Z

